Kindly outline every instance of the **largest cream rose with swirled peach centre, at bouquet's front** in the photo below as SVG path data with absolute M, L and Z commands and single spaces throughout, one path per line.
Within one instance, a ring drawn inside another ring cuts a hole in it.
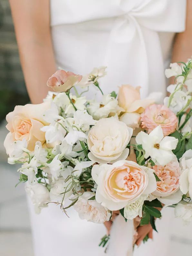
M 133 161 L 95 164 L 91 175 L 98 185 L 96 201 L 110 211 L 120 210 L 157 188 L 153 170 Z

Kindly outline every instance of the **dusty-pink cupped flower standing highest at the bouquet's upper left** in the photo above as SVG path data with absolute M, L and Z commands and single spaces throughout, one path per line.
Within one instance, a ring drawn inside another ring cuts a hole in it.
M 55 92 L 67 92 L 75 84 L 80 82 L 82 75 L 76 75 L 69 71 L 57 70 L 47 81 L 47 86 Z

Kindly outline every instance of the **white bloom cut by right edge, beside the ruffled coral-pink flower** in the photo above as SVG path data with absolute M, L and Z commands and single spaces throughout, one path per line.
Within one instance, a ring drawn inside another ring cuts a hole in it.
M 192 149 L 187 150 L 179 159 L 181 176 L 179 179 L 180 190 L 183 194 L 189 193 L 192 199 Z

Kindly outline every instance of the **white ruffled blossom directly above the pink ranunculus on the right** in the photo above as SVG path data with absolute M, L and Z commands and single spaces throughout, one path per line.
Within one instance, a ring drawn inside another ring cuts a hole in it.
M 170 84 L 167 87 L 167 91 L 173 94 L 173 96 L 171 99 L 170 97 L 165 97 L 164 99 L 164 104 L 168 106 L 175 114 L 177 114 L 181 110 L 184 111 L 187 108 L 188 101 L 191 99 L 191 96 L 188 95 L 186 91 L 179 88 L 180 85 Z

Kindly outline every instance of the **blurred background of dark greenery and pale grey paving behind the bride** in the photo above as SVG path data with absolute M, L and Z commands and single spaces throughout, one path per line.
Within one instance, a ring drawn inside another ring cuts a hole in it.
M 0 1 L 0 255 L 33 256 L 24 184 L 15 165 L 7 163 L 3 141 L 5 116 L 15 105 L 29 102 L 22 74 L 8 0 Z M 174 222 L 167 256 L 191 256 L 192 226 Z M 176 224 L 177 223 L 177 224 Z M 159 244 L 159 248 L 163 246 Z M 44 255 L 42 255 L 44 256 Z

